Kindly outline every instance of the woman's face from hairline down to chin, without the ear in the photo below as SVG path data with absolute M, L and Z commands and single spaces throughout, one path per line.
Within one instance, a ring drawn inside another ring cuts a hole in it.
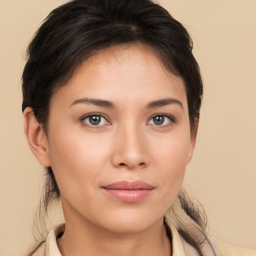
M 193 151 L 182 78 L 145 47 L 102 50 L 53 94 L 46 144 L 66 222 L 144 230 L 174 201 Z

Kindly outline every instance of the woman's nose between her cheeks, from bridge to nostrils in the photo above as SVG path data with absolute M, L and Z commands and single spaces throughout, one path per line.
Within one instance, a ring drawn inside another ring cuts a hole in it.
M 112 164 L 134 169 L 148 165 L 146 139 L 135 126 L 120 128 L 114 138 Z

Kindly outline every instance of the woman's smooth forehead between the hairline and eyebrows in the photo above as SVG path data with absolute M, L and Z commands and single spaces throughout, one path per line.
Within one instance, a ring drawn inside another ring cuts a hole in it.
M 166 70 L 149 47 L 137 44 L 97 51 L 75 69 L 53 98 L 65 97 L 70 101 L 78 96 L 107 97 L 113 101 L 175 96 L 186 101 L 183 79 Z

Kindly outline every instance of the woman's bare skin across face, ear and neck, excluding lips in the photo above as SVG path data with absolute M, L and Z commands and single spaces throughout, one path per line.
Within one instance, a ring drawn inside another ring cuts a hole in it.
M 102 116 L 99 125 L 89 122 L 89 113 Z M 52 167 L 61 192 L 66 229 L 57 243 L 63 256 L 171 255 L 163 215 L 195 143 L 181 77 L 143 45 L 114 46 L 84 61 L 53 94 L 47 136 L 30 107 L 24 119 L 31 150 Z M 154 189 L 137 202 L 102 189 L 120 180 L 142 180 Z

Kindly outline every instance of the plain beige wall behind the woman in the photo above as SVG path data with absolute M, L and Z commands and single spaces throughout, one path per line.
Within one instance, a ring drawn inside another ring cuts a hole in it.
M 256 1 L 161 0 L 194 39 L 205 94 L 184 185 L 208 215 L 209 231 L 256 247 Z M 22 128 L 21 53 L 61 0 L 0 0 L 0 255 L 33 241 L 41 167 Z M 52 223 L 61 214 L 51 214 Z

